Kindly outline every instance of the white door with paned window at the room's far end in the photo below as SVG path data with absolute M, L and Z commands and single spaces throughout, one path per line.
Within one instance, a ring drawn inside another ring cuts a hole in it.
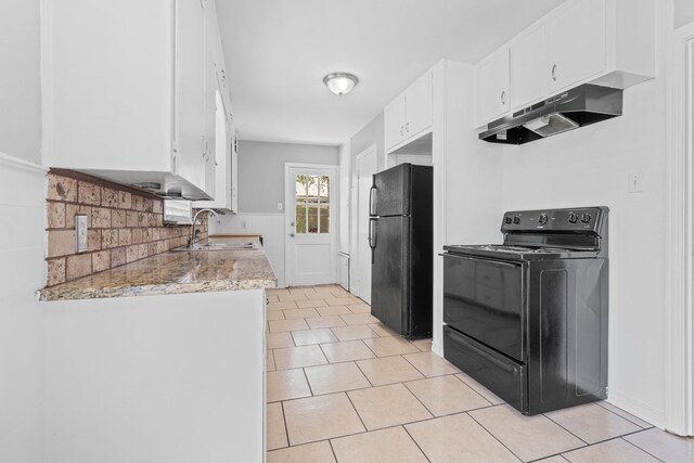
M 288 286 L 337 282 L 337 166 L 286 166 Z

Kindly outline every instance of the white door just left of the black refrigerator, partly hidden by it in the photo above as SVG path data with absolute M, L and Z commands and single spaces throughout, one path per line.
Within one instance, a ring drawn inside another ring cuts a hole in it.
M 372 145 L 357 156 L 357 295 L 368 304 L 371 304 L 369 193 L 374 173 L 376 173 L 376 146 Z

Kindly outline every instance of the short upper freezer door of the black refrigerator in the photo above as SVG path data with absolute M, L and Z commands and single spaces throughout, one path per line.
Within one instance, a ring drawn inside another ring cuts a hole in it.
M 372 216 L 410 214 L 410 164 L 401 164 L 373 176 Z

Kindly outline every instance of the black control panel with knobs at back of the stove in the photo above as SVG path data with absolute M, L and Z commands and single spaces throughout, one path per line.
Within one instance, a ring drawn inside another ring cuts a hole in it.
M 600 234 L 602 217 L 607 211 L 607 207 L 509 211 L 504 214 L 501 231 Z

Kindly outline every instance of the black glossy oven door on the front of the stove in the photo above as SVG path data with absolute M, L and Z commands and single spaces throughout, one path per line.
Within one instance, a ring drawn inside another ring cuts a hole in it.
M 444 255 L 444 321 L 525 362 L 524 266 Z

